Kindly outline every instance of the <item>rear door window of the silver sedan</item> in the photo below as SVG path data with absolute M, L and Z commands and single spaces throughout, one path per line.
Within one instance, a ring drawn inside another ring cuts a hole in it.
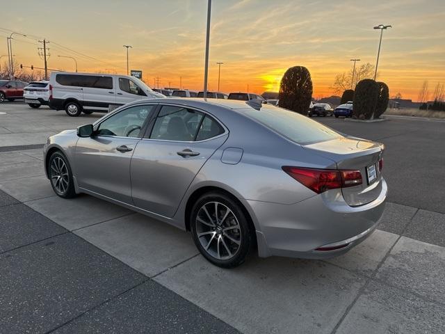
M 180 106 L 163 106 L 150 138 L 165 141 L 194 141 L 202 113 Z

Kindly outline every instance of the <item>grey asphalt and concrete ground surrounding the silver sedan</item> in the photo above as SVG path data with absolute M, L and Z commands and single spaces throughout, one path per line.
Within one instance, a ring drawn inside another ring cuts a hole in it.
M 332 260 L 224 270 L 186 232 L 54 195 L 42 144 L 100 116 L 0 104 L 0 333 L 444 333 L 445 122 L 316 118 L 385 143 L 379 229 Z

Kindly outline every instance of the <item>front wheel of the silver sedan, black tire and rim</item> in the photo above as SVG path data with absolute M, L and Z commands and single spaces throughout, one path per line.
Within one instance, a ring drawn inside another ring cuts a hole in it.
M 60 160 L 63 161 L 66 168 L 60 164 Z M 51 157 L 49 157 L 47 170 L 49 182 L 51 182 L 51 186 L 57 196 L 62 198 L 73 198 L 76 196 L 71 167 L 68 163 L 68 159 L 62 152 L 56 151 L 51 154 Z

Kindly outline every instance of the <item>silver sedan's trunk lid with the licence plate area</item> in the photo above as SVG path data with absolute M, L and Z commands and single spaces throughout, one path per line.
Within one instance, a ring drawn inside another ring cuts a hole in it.
M 304 145 L 303 148 L 337 164 L 339 170 L 359 170 L 362 184 L 342 188 L 343 198 L 350 206 L 365 205 L 372 202 L 382 191 L 382 175 L 379 160 L 382 159 L 385 145 L 362 138 L 341 137 L 330 141 Z M 372 178 L 375 170 L 375 180 Z

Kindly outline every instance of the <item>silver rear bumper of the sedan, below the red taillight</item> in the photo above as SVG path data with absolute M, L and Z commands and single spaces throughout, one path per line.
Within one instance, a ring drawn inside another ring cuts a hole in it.
M 386 197 L 382 179 L 378 198 L 359 207 L 347 205 L 337 190 L 293 205 L 250 200 L 258 224 L 259 255 L 323 259 L 346 253 L 377 228 Z

